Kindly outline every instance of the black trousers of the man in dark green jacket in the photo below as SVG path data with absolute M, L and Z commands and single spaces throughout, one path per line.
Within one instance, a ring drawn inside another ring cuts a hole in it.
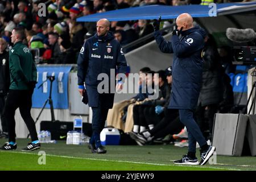
M 27 125 L 30 132 L 31 140 L 38 140 L 34 119 L 32 119 L 30 110 L 32 106 L 33 90 L 9 90 L 6 98 L 5 109 L 3 117 L 8 121 L 9 142 L 16 142 L 15 140 L 15 110 L 19 108 L 20 115 Z

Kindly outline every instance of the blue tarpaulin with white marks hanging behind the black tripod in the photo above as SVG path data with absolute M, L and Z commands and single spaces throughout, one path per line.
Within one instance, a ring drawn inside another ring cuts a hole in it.
M 50 81 L 47 79 L 44 84 L 38 88 L 39 85 L 46 80 L 47 76 L 54 74 L 55 80 L 52 82 L 52 101 L 54 109 L 68 109 L 68 75 L 71 71 L 71 66 L 40 66 L 38 69 L 38 83 L 34 89 L 32 96 L 32 107 L 42 108 L 44 102 L 49 97 Z M 49 102 L 45 108 L 49 108 Z

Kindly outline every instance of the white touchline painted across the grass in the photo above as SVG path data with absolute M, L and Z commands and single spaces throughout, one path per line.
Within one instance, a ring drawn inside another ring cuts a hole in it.
M 12 151 L 13 153 L 17 153 L 17 154 L 30 154 L 30 155 L 37 155 L 35 153 L 30 153 L 30 152 L 15 152 Z M 158 164 L 158 163 L 144 163 L 144 162 L 134 162 L 134 161 L 126 161 L 126 160 L 108 160 L 108 159 L 93 159 L 93 158 L 79 158 L 79 157 L 72 157 L 72 156 L 64 156 L 64 155 L 51 155 L 51 154 L 47 154 L 46 156 L 53 156 L 53 157 L 59 157 L 59 158 L 70 158 L 70 159 L 86 159 L 86 160 L 100 160 L 100 161 L 106 161 L 106 162 L 120 162 L 120 163 L 133 163 L 133 164 L 148 164 L 148 165 L 153 165 L 153 166 L 170 166 L 173 167 L 174 165 L 170 165 L 170 164 Z M 174 160 L 170 160 L 170 161 L 174 161 Z M 182 165 L 182 164 L 181 164 Z M 181 166 L 179 165 L 179 166 Z M 234 166 L 232 164 L 225 164 L 225 165 L 230 165 L 230 166 Z M 184 166 L 184 165 L 182 165 Z M 197 167 L 197 168 L 202 168 L 202 166 L 194 166 L 194 165 L 186 165 L 188 167 Z M 238 165 L 235 165 L 238 166 Z M 255 167 L 255 166 L 246 166 L 246 165 L 241 165 L 242 167 Z M 185 166 L 184 166 L 185 167 Z M 233 168 L 219 168 L 219 167 L 209 167 L 207 166 L 207 168 L 213 168 L 213 169 L 230 169 L 230 170 L 234 170 L 234 171 L 241 171 L 241 169 L 233 169 Z

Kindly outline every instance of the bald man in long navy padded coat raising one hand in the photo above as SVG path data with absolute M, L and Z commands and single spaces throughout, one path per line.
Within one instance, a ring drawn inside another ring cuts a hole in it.
M 172 32 L 171 42 L 164 40 L 159 32 L 160 18 L 154 22 L 155 40 L 164 53 L 174 53 L 172 63 L 172 94 L 169 109 L 179 109 L 180 121 L 188 130 L 188 154 L 175 164 L 204 165 L 216 149 L 208 146 L 199 126 L 193 119 L 201 88 L 205 31 L 193 27 L 193 19 L 187 13 L 180 14 L 176 19 L 177 29 Z M 179 35 L 181 37 L 179 38 Z M 196 158 L 196 142 L 201 147 L 201 162 Z

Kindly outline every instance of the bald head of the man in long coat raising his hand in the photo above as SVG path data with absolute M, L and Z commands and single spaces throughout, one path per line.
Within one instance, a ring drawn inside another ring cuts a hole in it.
M 180 30 L 183 27 L 184 30 L 188 30 L 193 27 L 193 18 L 188 13 L 183 13 L 177 16 L 176 19 L 177 29 Z

